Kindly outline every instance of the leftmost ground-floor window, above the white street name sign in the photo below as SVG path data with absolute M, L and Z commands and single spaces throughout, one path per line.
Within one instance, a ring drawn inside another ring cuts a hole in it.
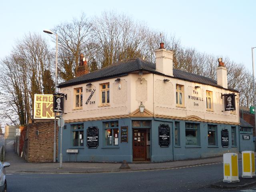
M 84 124 L 71 125 L 72 128 L 72 146 L 84 146 Z

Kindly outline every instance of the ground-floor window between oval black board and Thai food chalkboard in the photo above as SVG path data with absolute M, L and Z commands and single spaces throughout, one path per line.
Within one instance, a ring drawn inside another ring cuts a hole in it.
M 105 146 L 118 145 L 118 121 L 104 122 Z

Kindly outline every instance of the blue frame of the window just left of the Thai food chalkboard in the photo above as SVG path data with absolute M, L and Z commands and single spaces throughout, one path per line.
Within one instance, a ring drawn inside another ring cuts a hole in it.
M 114 123 L 114 126 L 111 126 L 111 124 Z M 106 127 L 106 124 L 108 124 L 108 127 Z M 106 144 L 106 130 L 111 129 L 112 132 L 112 145 Z M 117 138 L 118 138 L 118 144 L 114 144 L 114 129 L 118 130 Z M 119 147 L 120 139 L 119 139 L 119 122 L 118 121 L 105 121 L 103 122 L 103 146 L 104 148 L 116 148 Z

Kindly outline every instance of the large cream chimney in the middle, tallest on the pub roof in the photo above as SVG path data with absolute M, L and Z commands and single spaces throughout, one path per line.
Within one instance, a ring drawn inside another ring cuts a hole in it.
M 173 76 L 173 52 L 166 50 L 164 48 L 164 43 L 160 43 L 160 48 L 155 50 L 155 54 L 156 70 L 163 74 Z

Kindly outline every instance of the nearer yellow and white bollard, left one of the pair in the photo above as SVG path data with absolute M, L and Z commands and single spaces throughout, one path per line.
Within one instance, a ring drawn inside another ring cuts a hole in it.
M 236 183 L 238 179 L 238 155 L 236 153 L 223 154 L 223 182 Z

